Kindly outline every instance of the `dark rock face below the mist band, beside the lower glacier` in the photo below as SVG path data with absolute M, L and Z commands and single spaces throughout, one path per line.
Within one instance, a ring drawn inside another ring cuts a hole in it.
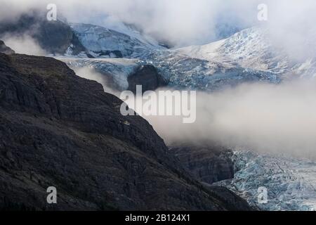
M 199 181 L 213 184 L 234 178 L 230 150 L 217 146 L 173 146 L 170 150 Z

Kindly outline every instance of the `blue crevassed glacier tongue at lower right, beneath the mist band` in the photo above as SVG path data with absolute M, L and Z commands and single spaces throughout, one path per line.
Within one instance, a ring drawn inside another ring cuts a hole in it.
M 261 210 L 316 210 L 316 160 L 235 151 L 234 179 L 220 181 Z M 258 203 L 258 188 L 268 203 Z

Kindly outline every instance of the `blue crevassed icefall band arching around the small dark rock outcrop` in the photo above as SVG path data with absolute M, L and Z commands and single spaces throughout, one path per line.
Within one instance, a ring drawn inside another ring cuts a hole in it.
M 146 57 L 132 58 L 68 58 L 58 57 L 70 68 L 94 68 L 103 75 L 110 75 L 121 90 L 126 89 L 126 79 L 138 65 L 153 65 L 159 74 L 178 89 L 214 91 L 242 82 L 279 83 L 271 72 L 242 68 L 227 63 L 212 62 L 179 55 L 173 51 L 152 51 Z

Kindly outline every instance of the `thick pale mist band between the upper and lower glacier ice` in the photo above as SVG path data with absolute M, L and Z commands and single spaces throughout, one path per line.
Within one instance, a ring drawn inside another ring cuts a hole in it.
M 197 93 L 197 120 L 145 117 L 168 145 L 218 143 L 265 153 L 316 156 L 316 83 L 242 84 Z M 169 105 L 169 107 L 172 107 Z

